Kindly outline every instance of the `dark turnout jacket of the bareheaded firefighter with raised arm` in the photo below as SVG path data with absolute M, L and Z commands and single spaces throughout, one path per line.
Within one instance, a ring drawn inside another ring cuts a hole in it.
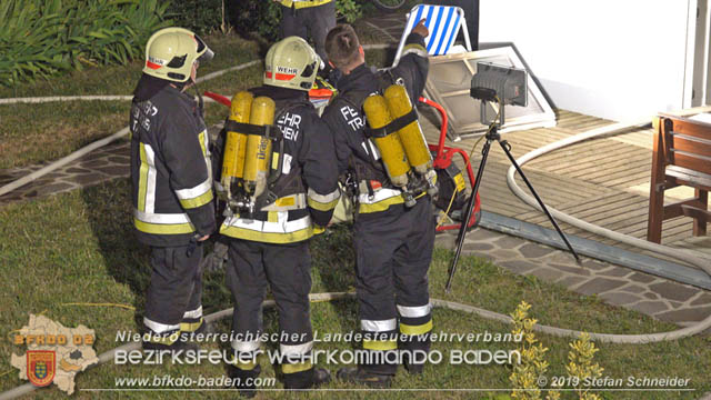
M 350 171 L 359 187 L 356 199 L 359 214 L 385 211 L 404 202 L 402 192 L 388 179 L 375 144 L 367 136 L 362 110 L 365 98 L 382 93 L 392 83 L 403 84 L 412 104 L 417 104 L 429 70 L 424 39 L 410 33 L 402 54 L 399 64 L 390 70 L 379 72 L 363 63 L 341 77 L 337 89 L 342 94 L 323 112 L 322 118 L 334 136 L 339 172 Z

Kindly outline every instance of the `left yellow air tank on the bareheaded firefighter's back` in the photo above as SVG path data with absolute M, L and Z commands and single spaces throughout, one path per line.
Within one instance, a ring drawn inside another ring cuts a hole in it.
M 392 121 L 388 104 L 382 96 L 368 97 L 363 102 L 363 110 L 371 129 L 380 129 Z M 373 141 L 380 151 L 390 181 L 397 187 L 405 187 L 410 164 L 398 136 L 391 133 L 381 138 L 373 137 Z

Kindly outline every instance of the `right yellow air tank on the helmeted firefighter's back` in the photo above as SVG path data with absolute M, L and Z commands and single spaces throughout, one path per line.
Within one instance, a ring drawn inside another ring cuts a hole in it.
M 274 101 L 260 96 L 252 101 L 249 123 L 270 126 L 274 121 Z M 271 140 L 258 134 L 247 137 L 244 153 L 244 183 L 250 194 L 259 196 L 267 184 L 271 167 Z

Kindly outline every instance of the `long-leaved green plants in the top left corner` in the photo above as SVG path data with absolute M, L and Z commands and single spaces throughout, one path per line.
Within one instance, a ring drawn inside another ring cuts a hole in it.
M 140 59 L 151 33 L 169 24 L 168 6 L 158 0 L 2 0 L 0 84 Z

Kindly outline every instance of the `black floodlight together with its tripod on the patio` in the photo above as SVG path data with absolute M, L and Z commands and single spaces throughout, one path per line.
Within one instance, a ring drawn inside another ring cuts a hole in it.
M 477 198 L 477 193 L 479 192 L 479 184 L 481 184 L 481 178 L 483 177 L 484 167 L 487 164 L 487 159 L 489 157 L 489 150 L 491 149 L 491 142 L 497 141 L 501 146 L 501 149 L 505 152 L 509 161 L 515 167 L 515 170 L 519 172 L 525 184 L 528 186 L 531 193 L 538 201 L 539 206 L 551 221 L 558 234 L 561 237 L 568 250 L 573 254 L 575 261 L 580 263 L 580 257 L 573 249 L 573 247 L 565 238 L 563 231 L 561 231 L 558 222 L 553 219 L 553 216 L 548 211 L 548 208 L 543 203 L 543 200 L 538 196 L 535 189 L 531 182 L 529 182 L 528 178 L 521 170 L 521 167 L 515 162 L 515 159 L 511 154 L 511 144 L 508 141 L 501 140 L 501 134 L 499 133 L 499 129 L 504 123 L 504 104 L 512 106 L 522 106 L 525 107 L 528 103 L 528 73 L 523 69 L 517 69 L 504 66 L 497 66 L 489 62 L 478 62 L 477 63 L 477 74 L 471 79 L 471 91 L 470 96 L 474 99 L 481 100 L 481 122 L 487 123 L 487 103 L 488 102 L 497 102 L 499 104 L 499 120 L 494 118 L 489 124 L 489 129 L 487 130 L 485 139 L 487 142 L 481 151 L 481 162 L 479 164 L 479 171 L 477 171 L 477 179 L 474 181 L 474 188 L 472 189 L 472 194 L 470 197 L 469 203 L 465 208 L 465 218 L 464 221 L 469 221 L 471 218 L 471 213 L 474 206 L 474 199 Z M 447 280 L 445 290 L 449 293 L 452 287 L 452 280 L 454 278 L 454 272 L 457 271 L 457 262 L 459 261 L 459 257 L 462 252 L 462 244 L 464 243 L 464 236 L 467 234 L 467 226 L 462 223 L 461 229 L 459 230 L 459 236 L 457 237 L 457 251 L 454 252 L 454 259 L 452 260 L 452 264 L 449 268 L 449 279 Z

